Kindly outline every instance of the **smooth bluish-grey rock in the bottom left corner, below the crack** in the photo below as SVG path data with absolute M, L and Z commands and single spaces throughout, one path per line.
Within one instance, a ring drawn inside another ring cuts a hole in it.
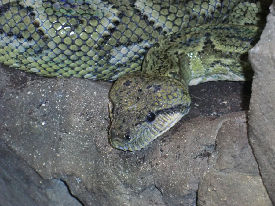
M 0 205 L 82 205 L 63 181 L 41 178 L 1 140 L 0 151 Z

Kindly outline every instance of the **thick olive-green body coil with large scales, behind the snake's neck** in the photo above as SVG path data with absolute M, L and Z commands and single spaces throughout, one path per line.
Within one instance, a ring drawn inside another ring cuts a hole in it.
M 250 11 L 239 2 L 1 1 L 0 63 L 46 77 L 114 80 L 141 70 L 148 49 L 168 34 L 259 18 L 251 13 L 261 12 L 258 4 Z

